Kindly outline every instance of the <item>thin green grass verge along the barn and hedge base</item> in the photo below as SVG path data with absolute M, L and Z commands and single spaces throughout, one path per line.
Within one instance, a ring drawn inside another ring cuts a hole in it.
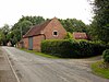
M 47 55 L 47 54 L 43 54 L 43 52 L 37 52 L 36 50 L 28 50 L 28 49 L 24 49 L 24 48 L 20 48 L 23 51 L 26 52 L 31 52 L 31 54 L 35 54 L 37 56 L 41 56 L 41 57 L 46 57 L 46 58 L 51 58 L 51 59 L 58 59 L 59 57 L 56 56 L 51 56 L 51 55 Z

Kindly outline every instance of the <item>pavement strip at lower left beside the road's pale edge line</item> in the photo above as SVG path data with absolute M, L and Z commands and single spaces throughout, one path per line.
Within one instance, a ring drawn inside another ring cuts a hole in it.
M 0 47 L 0 82 L 17 82 L 9 65 L 8 57 Z

